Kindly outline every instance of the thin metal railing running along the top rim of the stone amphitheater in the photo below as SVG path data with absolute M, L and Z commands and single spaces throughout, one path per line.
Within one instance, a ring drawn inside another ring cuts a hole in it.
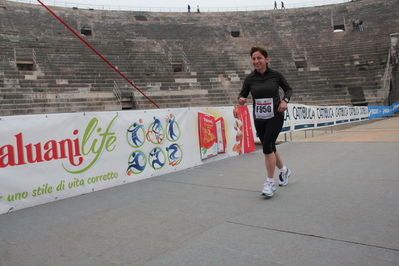
M 39 4 L 36 0 L 8 0 L 10 2 L 20 2 L 28 4 Z M 107 10 L 107 11 L 140 11 L 140 12 L 187 12 L 187 6 L 182 7 L 146 7 L 146 6 L 112 6 L 112 5 L 96 5 L 83 3 L 65 3 L 62 1 L 42 1 L 48 6 L 58 6 L 66 8 L 90 9 L 90 10 Z M 84 0 L 83 0 L 84 2 Z M 356 2 L 356 0 L 314 0 L 296 4 L 285 4 L 285 9 L 325 6 L 333 4 L 341 4 L 347 2 Z M 274 2 L 262 6 L 230 6 L 230 7 L 200 7 L 201 12 L 239 12 L 239 11 L 262 11 L 274 9 Z M 194 15 L 196 12 L 192 12 Z

